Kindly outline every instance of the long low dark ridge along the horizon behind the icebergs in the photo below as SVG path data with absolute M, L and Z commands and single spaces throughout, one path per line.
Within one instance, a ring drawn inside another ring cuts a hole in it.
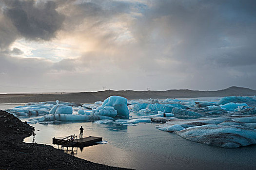
M 63 93 L 63 94 L 0 94 L 0 103 L 27 103 L 27 102 L 79 102 L 92 103 L 104 101 L 112 95 L 132 99 L 166 99 L 166 98 L 196 98 L 196 97 L 224 97 L 224 96 L 254 96 L 256 90 L 232 86 L 217 91 L 197 90 L 167 90 L 167 91 L 133 91 L 133 90 L 105 90 L 98 92 Z

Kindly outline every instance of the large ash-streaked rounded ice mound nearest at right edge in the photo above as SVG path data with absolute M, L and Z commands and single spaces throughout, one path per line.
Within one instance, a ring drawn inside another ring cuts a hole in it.
M 203 125 L 175 133 L 187 140 L 223 148 L 256 144 L 256 130 L 244 126 Z

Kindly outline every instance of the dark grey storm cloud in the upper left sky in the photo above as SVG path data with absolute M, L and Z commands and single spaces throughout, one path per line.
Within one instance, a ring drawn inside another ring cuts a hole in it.
M 3 14 L 27 39 L 49 40 L 61 28 L 64 16 L 56 11 L 54 1 L 36 4 L 35 0 L 4 0 Z

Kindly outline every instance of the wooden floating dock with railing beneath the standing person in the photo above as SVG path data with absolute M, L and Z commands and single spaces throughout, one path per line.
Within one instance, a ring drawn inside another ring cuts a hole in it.
M 88 136 L 84 138 L 78 138 L 78 136 L 68 136 L 64 138 L 53 137 L 53 144 L 57 144 L 61 147 L 86 147 L 95 145 L 96 142 L 102 141 L 102 137 Z

